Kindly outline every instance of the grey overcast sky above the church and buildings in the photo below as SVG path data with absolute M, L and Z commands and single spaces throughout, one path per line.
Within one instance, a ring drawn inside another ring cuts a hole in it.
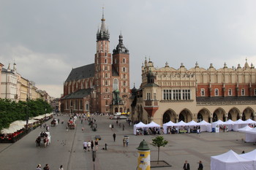
M 72 68 L 94 63 L 105 7 L 110 50 L 124 36 L 130 84 L 141 82 L 147 56 L 154 66 L 219 69 L 256 65 L 256 1 L 236 0 L 0 0 L 0 63 L 50 96 L 60 97 Z

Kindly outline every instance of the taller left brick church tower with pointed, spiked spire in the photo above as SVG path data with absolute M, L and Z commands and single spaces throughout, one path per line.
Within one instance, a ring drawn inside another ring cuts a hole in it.
M 97 112 L 110 112 L 112 77 L 110 34 L 105 26 L 104 11 L 102 12 L 102 24 L 97 31 L 97 53 L 95 54 L 95 88 Z

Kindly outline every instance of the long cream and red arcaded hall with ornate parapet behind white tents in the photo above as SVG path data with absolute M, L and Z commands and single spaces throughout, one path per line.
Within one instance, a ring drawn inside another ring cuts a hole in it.
M 244 64 L 237 68 L 208 69 L 195 64 L 186 69 L 181 63 L 173 69 L 165 63 L 154 67 L 152 61 L 143 63 L 142 83 L 132 89 L 132 120 L 162 125 L 183 120 L 199 122 L 206 120 L 255 119 L 256 69 Z

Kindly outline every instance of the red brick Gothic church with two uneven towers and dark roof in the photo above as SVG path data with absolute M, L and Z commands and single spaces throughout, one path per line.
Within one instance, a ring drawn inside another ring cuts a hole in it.
M 129 50 L 123 36 L 110 53 L 110 34 L 104 13 L 97 31 L 94 63 L 72 69 L 64 82 L 61 112 L 129 112 Z

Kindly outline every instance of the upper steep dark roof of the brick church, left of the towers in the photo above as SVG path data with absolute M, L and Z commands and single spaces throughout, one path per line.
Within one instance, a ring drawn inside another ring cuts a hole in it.
M 94 77 L 94 74 L 94 63 L 88 64 L 86 66 L 80 66 L 78 68 L 72 69 L 72 71 L 69 73 L 69 77 L 67 77 L 66 82 Z

